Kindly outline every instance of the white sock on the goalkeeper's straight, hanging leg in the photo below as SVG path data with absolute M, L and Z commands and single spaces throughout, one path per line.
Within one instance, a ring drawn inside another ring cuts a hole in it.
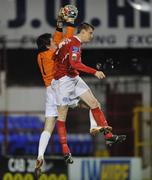
M 38 158 L 41 157 L 44 159 L 44 153 L 48 145 L 48 142 L 50 140 L 50 136 L 51 135 L 48 131 L 43 131 L 41 133 L 40 140 L 39 140 L 39 148 L 38 148 Z

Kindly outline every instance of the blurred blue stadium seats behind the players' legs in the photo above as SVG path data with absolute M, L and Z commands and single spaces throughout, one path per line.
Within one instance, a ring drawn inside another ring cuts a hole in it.
M 0 115 L 0 153 L 2 155 L 37 155 L 44 122 L 39 115 Z M 68 144 L 73 155 L 93 155 L 93 138 L 88 134 L 69 134 Z M 59 137 L 54 131 L 46 155 L 61 155 Z

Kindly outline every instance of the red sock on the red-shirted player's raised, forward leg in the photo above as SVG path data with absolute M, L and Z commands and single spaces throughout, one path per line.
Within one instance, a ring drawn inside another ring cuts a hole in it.
M 98 126 L 108 126 L 107 120 L 99 107 L 91 109 L 91 112 Z M 112 137 L 112 133 L 109 132 L 105 137 Z

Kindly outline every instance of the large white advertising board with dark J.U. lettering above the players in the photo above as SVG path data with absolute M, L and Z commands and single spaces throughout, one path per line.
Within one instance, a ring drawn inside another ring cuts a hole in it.
M 95 27 L 87 48 L 152 47 L 151 12 L 137 11 L 127 0 L 0 0 L 0 39 L 12 48 L 35 47 L 35 37 L 54 31 L 57 11 L 68 3 L 78 7 L 78 22 Z

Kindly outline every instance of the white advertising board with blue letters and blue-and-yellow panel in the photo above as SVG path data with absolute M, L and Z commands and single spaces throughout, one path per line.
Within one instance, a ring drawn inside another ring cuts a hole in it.
M 141 160 L 138 158 L 74 158 L 74 164 L 69 166 L 69 179 L 141 180 Z

